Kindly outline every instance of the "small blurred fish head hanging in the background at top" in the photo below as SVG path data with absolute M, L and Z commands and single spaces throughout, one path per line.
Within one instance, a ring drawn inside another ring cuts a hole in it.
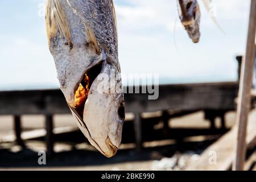
M 197 0 L 177 0 L 179 18 L 193 43 L 200 40 L 200 7 Z

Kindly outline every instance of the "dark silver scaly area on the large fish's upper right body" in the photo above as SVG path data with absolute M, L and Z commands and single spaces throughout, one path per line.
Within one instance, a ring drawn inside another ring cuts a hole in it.
M 100 47 L 108 48 L 109 54 L 118 57 L 117 32 L 110 0 L 70 1 L 92 28 Z

